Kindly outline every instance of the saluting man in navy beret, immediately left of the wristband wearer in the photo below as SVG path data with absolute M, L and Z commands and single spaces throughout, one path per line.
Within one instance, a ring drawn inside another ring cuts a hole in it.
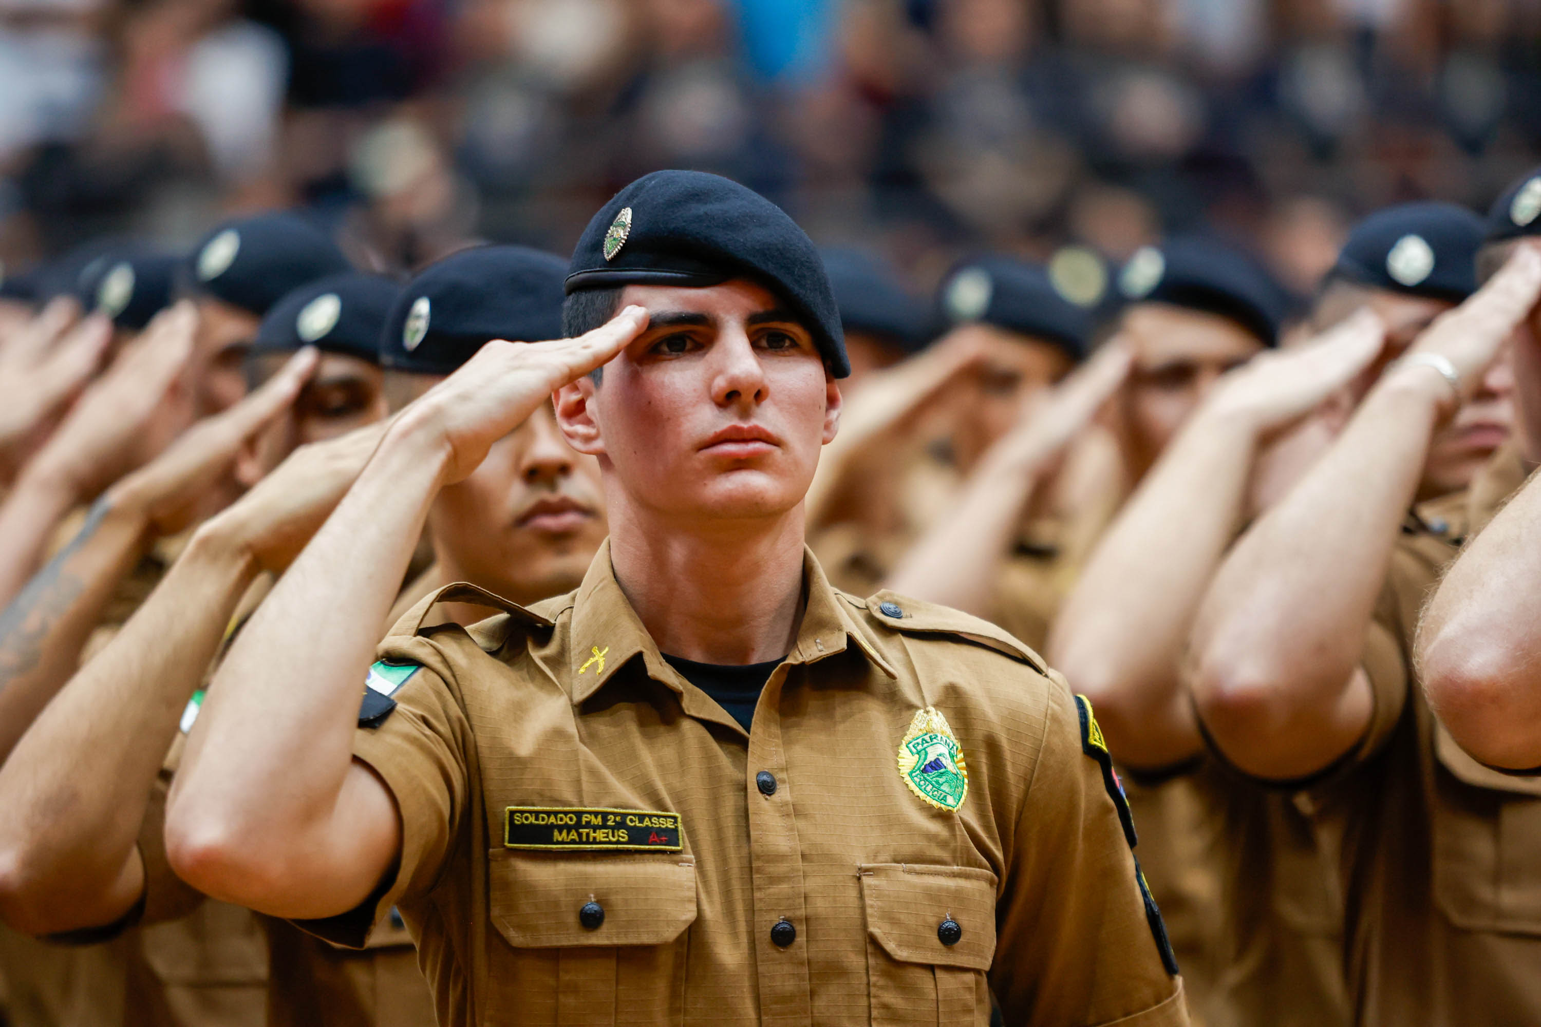
M 1356 225 L 1318 291 L 1321 337 L 1220 379 L 1114 520 L 1054 625 L 1049 656 L 1091 697 L 1136 782 L 1136 811 L 1148 813 L 1139 821 L 1147 873 L 1179 959 L 1197 968 L 1187 975 L 1190 1001 L 1208 1022 L 1330 1024 L 1350 1012 L 1341 916 L 1318 853 L 1301 841 L 1305 822 L 1287 799 L 1204 759 L 1182 677 L 1197 605 L 1264 493 L 1284 485 L 1259 488 L 1273 477 L 1262 470 L 1277 460 L 1274 440 L 1302 417 L 1341 420 L 1351 382 L 1476 288 L 1482 231 L 1482 219 L 1449 203 L 1388 208 Z M 1296 431 L 1285 442 L 1291 463 L 1319 454 L 1322 437 L 1330 428 Z M 1429 494 L 1470 468 L 1465 448 L 1447 451 L 1429 460 Z

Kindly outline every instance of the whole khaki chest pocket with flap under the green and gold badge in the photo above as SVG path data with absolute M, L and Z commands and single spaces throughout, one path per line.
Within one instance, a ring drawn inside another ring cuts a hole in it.
M 857 871 L 872 1027 L 988 1024 L 995 875 L 917 864 L 865 864 Z

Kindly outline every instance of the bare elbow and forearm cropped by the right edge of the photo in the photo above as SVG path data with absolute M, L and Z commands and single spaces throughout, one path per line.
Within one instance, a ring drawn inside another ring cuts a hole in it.
M 1541 479 L 1470 542 L 1424 611 L 1418 665 L 1429 702 L 1486 764 L 1541 767 Z

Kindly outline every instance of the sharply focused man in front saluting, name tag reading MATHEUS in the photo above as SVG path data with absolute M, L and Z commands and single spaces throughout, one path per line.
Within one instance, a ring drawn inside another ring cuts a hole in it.
M 567 289 L 576 337 L 490 343 L 404 411 L 236 641 L 180 873 L 353 942 L 396 904 L 442 1024 L 985 1024 L 991 992 L 1014 1024 L 1187 1022 L 1086 707 L 804 548 L 846 359 L 801 229 L 652 174 Z M 419 631 L 452 585 L 371 670 L 435 494 L 553 390 L 610 514 L 582 585 Z

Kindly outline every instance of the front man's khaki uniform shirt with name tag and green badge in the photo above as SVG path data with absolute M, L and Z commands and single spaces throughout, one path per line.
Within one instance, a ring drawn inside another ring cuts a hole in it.
M 609 544 L 576 593 L 470 631 L 418 631 L 470 587 L 427 599 L 381 647 L 419 670 L 354 739 L 399 868 L 305 927 L 356 941 L 396 904 L 447 1027 L 983 1025 L 991 992 L 1009 1024 L 1185 1024 L 1063 681 L 992 625 L 804 567 L 749 734 L 661 659 Z

